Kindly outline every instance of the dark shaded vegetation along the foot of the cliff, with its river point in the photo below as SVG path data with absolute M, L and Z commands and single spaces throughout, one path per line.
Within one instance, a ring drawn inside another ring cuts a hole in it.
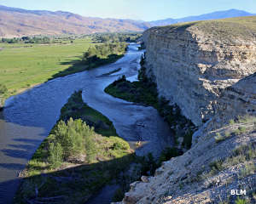
M 142 56 L 141 69 L 138 74 L 139 81 L 129 82 L 123 76 L 105 88 L 105 92 L 113 95 L 113 97 L 153 106 L 172 128 L 177 147 L 179 149 L 189 149 L 192 142 L 192 134 L 195 131 L 195 125 L 186 117 L 182 116 L 177 105 L 169 105 L 170 101 L 159 96 L 156 84 L 149 80 L 145 74 L 146 68 L 144 62 L 145 58 Z

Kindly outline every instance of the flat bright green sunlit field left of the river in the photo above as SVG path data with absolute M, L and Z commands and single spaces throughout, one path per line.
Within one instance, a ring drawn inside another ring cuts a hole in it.
M 5 98 L 73 67 L 94 44 L 90 37 L 61 44 L 0 43 L 0 82 L 9 89 Z M 82 64 L 73 67 L 74 72 L 85 68 Z

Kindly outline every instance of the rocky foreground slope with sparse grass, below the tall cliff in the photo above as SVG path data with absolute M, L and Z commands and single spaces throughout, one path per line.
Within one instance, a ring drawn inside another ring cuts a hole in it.
M 255 91 L 256 74 L 225 88 L 218 114 L 195 133 L 192 148 L 131 184 L 121 203 L 235 203 L 234 189 L 247 190 L 244 199 L 255 203 Z

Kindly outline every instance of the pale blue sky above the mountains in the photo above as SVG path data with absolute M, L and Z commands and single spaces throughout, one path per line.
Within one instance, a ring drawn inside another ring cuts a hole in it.
M 230 8 L 256 13 L 256 0 L 0 0 L 0 5 L 134 20 L 181 18 Z

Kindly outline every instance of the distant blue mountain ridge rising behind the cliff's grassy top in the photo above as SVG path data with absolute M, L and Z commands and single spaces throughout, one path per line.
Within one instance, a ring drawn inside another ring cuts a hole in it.
M 242 10 L 230 9 L 225 11 L 217 11 L 210 14 L 189 16 L 181 19 L 154 20 L 148 23 L 150 23 L 151 26 L 166 26 L 170 24 L 183 23 L 183 22 L 196 21 L 196 20 L 216 20 L 216 19 L 225 19 L 225 18 L 250 16 L 250 15 L 255 15 L 255 14 L 250 14 Z

